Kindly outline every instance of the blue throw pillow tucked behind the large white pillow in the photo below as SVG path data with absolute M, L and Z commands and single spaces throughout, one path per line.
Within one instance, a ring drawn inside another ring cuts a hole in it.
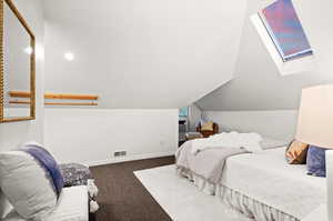
M 20 150 L 34 158 L 34 160 L 43 168 L 57 197 L 59 198 L 63 188 L 63 177 L 51 153 L 37 144 L 27 144 Z

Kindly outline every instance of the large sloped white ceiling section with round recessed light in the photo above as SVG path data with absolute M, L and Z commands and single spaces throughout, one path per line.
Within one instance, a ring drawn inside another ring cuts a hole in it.
M 101 108 L 179 108 L 232 79 L 246 0 L 44 2 L 46 91 L 97 93 Z

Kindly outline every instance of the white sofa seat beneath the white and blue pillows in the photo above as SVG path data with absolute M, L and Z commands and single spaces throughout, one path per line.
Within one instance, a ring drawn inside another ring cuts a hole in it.
M 88 190 L 85 185 L 64 188 L 56 210 L 46 221 L 89 221 Z M 0 193 L 0 220 L 26 221 L 18 215 Z

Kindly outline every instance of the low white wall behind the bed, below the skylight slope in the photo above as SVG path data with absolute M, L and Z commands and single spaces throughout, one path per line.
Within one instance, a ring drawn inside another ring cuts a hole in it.
M 216 122 L 220 131 L 258 132 L 270 138 L 294 139 L 297 111 L 205 111 L 204 115 Z

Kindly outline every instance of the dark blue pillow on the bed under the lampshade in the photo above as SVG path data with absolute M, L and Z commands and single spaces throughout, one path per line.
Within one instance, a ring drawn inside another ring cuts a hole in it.
M 307 174 L 315 177 L 326 177 L 326 149 L 310 145 L 307 150 L 306 165 Z

